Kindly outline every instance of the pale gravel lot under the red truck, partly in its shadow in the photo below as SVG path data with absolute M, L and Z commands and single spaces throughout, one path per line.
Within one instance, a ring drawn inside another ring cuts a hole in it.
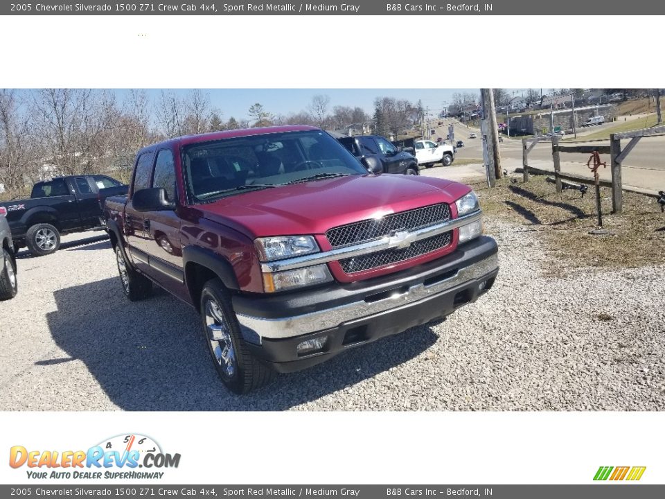
M 125 300 L 103 233 L 21 252 L 0 409 L 664 410 L 665 267 L 559 273 L 533 231 L 486 229 L 501 270 L 476 304 L 249 396 L 218 381 L 193 309 L 161 290 Z

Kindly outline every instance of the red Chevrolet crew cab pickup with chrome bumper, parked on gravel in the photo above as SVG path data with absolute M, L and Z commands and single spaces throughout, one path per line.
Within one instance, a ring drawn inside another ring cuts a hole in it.
M 469 187 L 378 170 L 306 126 L 143 148 L 127 197 L 105 202 L 123 290 L 195 306 L 224 384 L 246 393 L 490 289 L 497 245 Z

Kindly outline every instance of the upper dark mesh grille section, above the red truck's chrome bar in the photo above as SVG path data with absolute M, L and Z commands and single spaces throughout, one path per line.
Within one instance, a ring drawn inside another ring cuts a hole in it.
M 389 236 L 394 232 L 414 231 L 446 220 L 450 220 L 450 207 L 445 203 L 432 204 L 432 206 L 424 208 L 393 213 L 378 220 L 363 220 L 362 222 L 335 227 L 326 232 L 326 237 L 330 241 L 332 249 L 335 249 L 366 243 L 369 240 Z

